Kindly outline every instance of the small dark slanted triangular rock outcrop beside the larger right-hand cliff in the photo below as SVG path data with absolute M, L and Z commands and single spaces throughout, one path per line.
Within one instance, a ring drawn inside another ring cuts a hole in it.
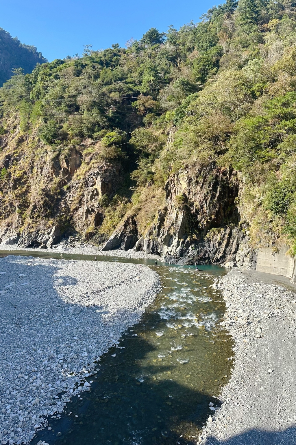
M 126 251 L 132 249 L 137 241 L 137 225 L 134 216 L 131 215 L 113 232 L 107 243 L 104 244 L 102 251 L 119 248 Z

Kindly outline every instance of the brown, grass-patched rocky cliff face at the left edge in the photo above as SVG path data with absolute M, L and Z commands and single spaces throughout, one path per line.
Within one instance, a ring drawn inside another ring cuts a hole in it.
M 2 139 L 0 170 L 8 169 L 0 180 L 2 241 L 49 248 L 75 232 L 87 238 L 90 227 L 101 225 L 102 197 L 112 198 L 122 186 L 119 160 L 103 159 L 98 144 L 88 140 L 66 151 L 47 151 L 39 142 L 34 147 L 39 155 L 22 157 L 29 137 L 20 139 L 16 132 Z

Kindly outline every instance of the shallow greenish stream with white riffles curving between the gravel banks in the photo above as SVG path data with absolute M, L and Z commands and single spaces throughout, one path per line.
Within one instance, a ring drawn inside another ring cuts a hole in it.
M 0 256 L 9 254 L 60 258 L 51 252 L 0 251 Z M 212 287 L 225 271 L 159 262 L 155 267 L 149 259 L 98 259 L 147 264 L 160 275 L 162 291 L 140 322 L 101 357 L 98 373 L 87 379 L 93 381 L 91 391 L 72 397 L 61 419 L 49 418 L 51 430 L 39 431 L 32 444 L 195 444 L 213 413 L 209 402 L 217 404 L 213 396 L 227 383 L 232 363 L 227 360 L 231 337 L 219 325 L 225 303 Z

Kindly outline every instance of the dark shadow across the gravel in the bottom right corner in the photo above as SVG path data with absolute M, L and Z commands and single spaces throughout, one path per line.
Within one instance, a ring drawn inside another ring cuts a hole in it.
M 296 427 L 290 427 L 284 431 L 251 429 L 227 441 L 217 441 L 214 437 L 209 437 L 205 445 L 295 445 L 295 443 Z

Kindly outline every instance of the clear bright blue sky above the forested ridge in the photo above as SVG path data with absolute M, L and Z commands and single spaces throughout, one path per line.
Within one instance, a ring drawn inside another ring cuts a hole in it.
M 223 0 L 221 1 L 223 3 Z M 34 44 L 49 61 L 140 39 L 151 27 L 166 31 L 197 22 L 213 0 L 0 0 L 0 27 Z

